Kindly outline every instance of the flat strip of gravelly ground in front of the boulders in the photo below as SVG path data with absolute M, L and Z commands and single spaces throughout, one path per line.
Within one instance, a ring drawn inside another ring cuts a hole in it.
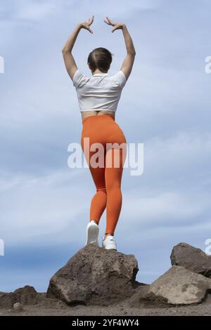
M 26 316 L 41 316 L 41 315 L 58 315 L 58 316 L 211 316 L 211 295 L 207 296 L 206 301 L 200 304 L 194 305 L 165 305 L 160 304 L 134 308 L 124 301 L 117 303 L 112 306 L 101 306 L 101 305 L 75 305 L 67 306 L 64 305 L 62 308 L 59 305 L 49 304 L 43 305 L 38 303 L 37 305 L 25 305 L 22 312 L 16 312 L 15 310 L 2 310 L 0 309 L 1 315 L 26 315 Z

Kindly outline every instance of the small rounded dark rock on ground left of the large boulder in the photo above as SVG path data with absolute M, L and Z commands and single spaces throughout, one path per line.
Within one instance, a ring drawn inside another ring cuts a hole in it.
M 37 303 L 37 291 L 33 286 L 26 285 L 13 292 L 15 303 L 22 305 L 35 305 Z

